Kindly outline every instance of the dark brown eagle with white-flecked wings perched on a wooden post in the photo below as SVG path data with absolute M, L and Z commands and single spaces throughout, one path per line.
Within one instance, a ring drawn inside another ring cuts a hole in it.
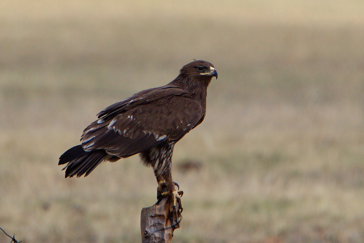
M 68 163 L 65 177 L 87 176 L 102 162 L 139 154 L 146 166 L 153 167 L 157 190 L 166 187 L 163 194 L 173 196 L 174 206 L 176 200 L 181 203 L 181 191 L 175 189 L 178 184 L 171 175 L 174 144 L 205 118 L 207 86 L 213 76 L 217 79 L 214 65 L 193 61 L 169 84 L 103 109 L 83 131 L 81 144 L 60 156 L 59 165 Z

